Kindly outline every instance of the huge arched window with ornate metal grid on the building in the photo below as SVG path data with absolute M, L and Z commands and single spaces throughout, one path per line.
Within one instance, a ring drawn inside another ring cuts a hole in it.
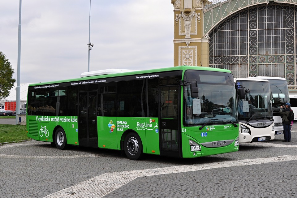
M 275 76 L 296 85 L 297 9 L 284 4 L 239 11 L 209 33 L 209 67 L 234 77 Z

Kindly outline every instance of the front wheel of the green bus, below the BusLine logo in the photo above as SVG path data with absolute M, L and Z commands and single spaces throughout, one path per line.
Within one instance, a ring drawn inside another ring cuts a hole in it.
M 138 160 L 142 157 L 142 142 L 136 133 L 128 133 L 124 141 L 124 150 L 131 160 Z

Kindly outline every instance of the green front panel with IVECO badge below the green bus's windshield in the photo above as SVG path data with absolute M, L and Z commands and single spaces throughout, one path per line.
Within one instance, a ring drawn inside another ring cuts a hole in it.
M 183 158 L 202 157 L 216 155 L 221 153 L 230 153 L 238 151 L 239 146 L 234 146 L 238 137 L 238 127 L 233 125 L 207 125 L 203 129 L 198 127 L 182 127 L 182 149 Z M 206 134 L 206 136 L 205 136 Z M 193 140 L 199 143 L 201 151 L 191 152 L 189 141 Z M 205 147 L 201 143 L 214 142 L 222 140 L 234 140 L 231 144 L 222 147 Z M 194 156 L 193 153 L 196 153 Z

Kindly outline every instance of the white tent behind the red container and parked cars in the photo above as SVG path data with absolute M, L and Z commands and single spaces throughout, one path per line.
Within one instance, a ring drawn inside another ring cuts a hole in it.
M 25 109 L 26 108 L 26 103 L 27 103 L 27 93 L 28 93 L 28 86 L 31 83 L 20 83 L 20 109 Z M 4 105 L 5 102 L 16 102 L 16 86 L 17 84 L 15 83 L 13 88 L 9 91 L 9 96 L 0 100 L 0 109 L 4 110 Z M 6 109 L 5 109 L 6 110 Z

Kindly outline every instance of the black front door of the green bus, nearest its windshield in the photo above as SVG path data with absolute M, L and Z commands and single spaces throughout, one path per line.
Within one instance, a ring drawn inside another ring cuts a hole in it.
M 160 154 L 164 156 L 181 157 L 179 90 L 180 87 L 174 85 L 162 86 L 159 91 Z

